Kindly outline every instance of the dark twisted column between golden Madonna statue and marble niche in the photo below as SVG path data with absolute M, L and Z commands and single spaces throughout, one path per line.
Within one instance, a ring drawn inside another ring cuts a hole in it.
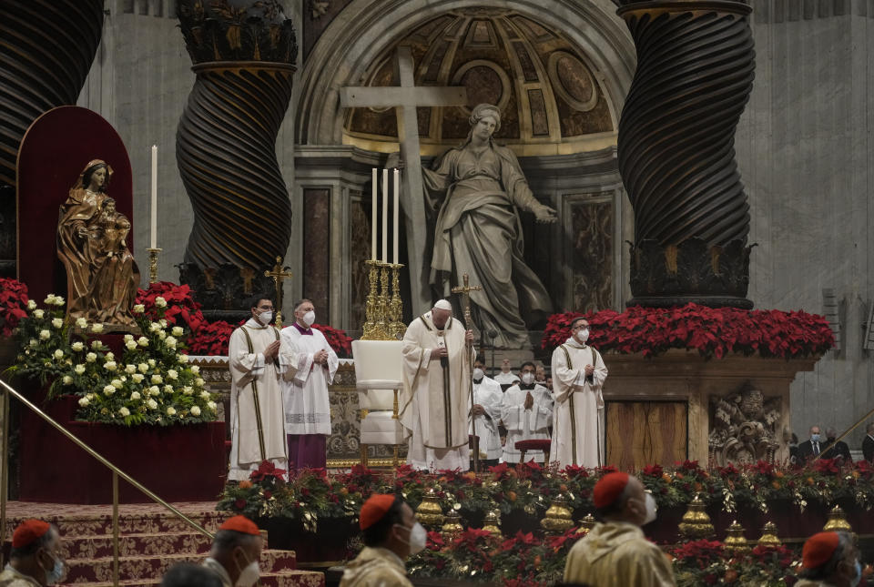
M 179 22 L 197 74 L 177 130 L 195 215 L 186 264 L 263 272 L 291 237 L 275 150 L 297 58 L 291 21 L 275 0 L 183 0 Z

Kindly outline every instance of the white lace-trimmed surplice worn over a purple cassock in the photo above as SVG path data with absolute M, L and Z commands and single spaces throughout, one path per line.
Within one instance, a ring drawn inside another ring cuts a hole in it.
M 340 365 L 337 353 L 330 348 L 328 340 L 317 329 L 308 329 L 303 334 L 295 325 L 282 329 L 282 339 L 295 356 L 297 373 L 294 379 L 282 384 L 285 399 L 286 434 L 324 434 L 330 436 L 330 404 L 328 386 Z M 312 356 L 325 350 L 328 362 L 320 365 Z

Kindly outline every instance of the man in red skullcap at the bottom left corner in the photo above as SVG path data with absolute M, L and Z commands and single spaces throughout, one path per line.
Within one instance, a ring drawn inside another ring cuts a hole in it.
M 12 533 L 9 562 L 0 572 L 4 587 L 46 587 L 61 582 L 66 571 L 58 554 L 57 528 L 42 520 L 25 520 Z

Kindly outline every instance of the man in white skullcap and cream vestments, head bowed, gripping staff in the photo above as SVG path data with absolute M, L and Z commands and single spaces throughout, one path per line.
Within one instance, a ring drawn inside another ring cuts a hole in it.
M 401 353 L 407 462 L 422 471 L 467 471 L 473 332 L 452 318 L 452 305 L 441 299 L 410 323 Z

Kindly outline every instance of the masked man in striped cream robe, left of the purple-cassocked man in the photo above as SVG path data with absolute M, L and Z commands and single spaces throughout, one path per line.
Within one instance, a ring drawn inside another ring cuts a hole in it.
M 282 380 L 294 376 L 294 355 L 270 326 L 273 302 L 251 302 L 252 318 L 230 335 L 230 470 L 228 479 L 249 479 L 263 460 L 288 469 Z

